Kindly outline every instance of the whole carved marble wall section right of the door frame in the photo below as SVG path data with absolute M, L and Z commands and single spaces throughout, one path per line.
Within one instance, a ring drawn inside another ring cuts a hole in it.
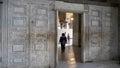
M 89 5 L 89 49 L 92 54 L 89 58 L 93 61 L 111 59 L 115 47 L 113 32 L 116 29 L 112 9 L 113 7 Z

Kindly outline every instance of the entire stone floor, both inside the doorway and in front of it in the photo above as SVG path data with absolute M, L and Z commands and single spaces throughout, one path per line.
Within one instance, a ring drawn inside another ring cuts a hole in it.
M 67 46 L 65 53 L 60 52 L 57 68 L 120 68 L 117 61 L 101 61 L 81 63 L 80 47 Z

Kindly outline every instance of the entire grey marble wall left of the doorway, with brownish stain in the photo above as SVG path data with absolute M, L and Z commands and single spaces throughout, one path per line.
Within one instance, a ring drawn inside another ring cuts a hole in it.
M 0 49 L 2 68 L 54 67 L 56 62 L 54 1 L 3 2 L 2 49 Z

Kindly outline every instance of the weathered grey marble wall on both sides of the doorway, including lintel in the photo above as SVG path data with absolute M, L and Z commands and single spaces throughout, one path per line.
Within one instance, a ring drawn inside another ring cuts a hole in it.
M 4 0 L 3 6 L 0 33 L 3 68 L 55 66 L 57 25 L 54 9 L 83 13 L 83 61 L 110 60 L 118 56 L 117 9 L 114 7 L 52 0 Z

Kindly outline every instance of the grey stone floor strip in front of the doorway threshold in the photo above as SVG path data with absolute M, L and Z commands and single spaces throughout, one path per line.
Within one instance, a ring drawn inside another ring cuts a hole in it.
M 120 65 L 115 61 L 92 63 L 68 63 L 60 61 L 57 68 L 120 68 Z

